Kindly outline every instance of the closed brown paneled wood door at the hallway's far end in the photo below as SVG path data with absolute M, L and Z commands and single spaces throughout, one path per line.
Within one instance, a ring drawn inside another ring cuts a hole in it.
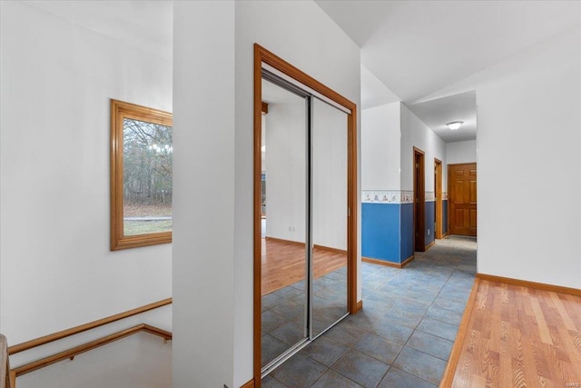
M 448 164 L 450 234 L 477 235 L 476 163 Z

